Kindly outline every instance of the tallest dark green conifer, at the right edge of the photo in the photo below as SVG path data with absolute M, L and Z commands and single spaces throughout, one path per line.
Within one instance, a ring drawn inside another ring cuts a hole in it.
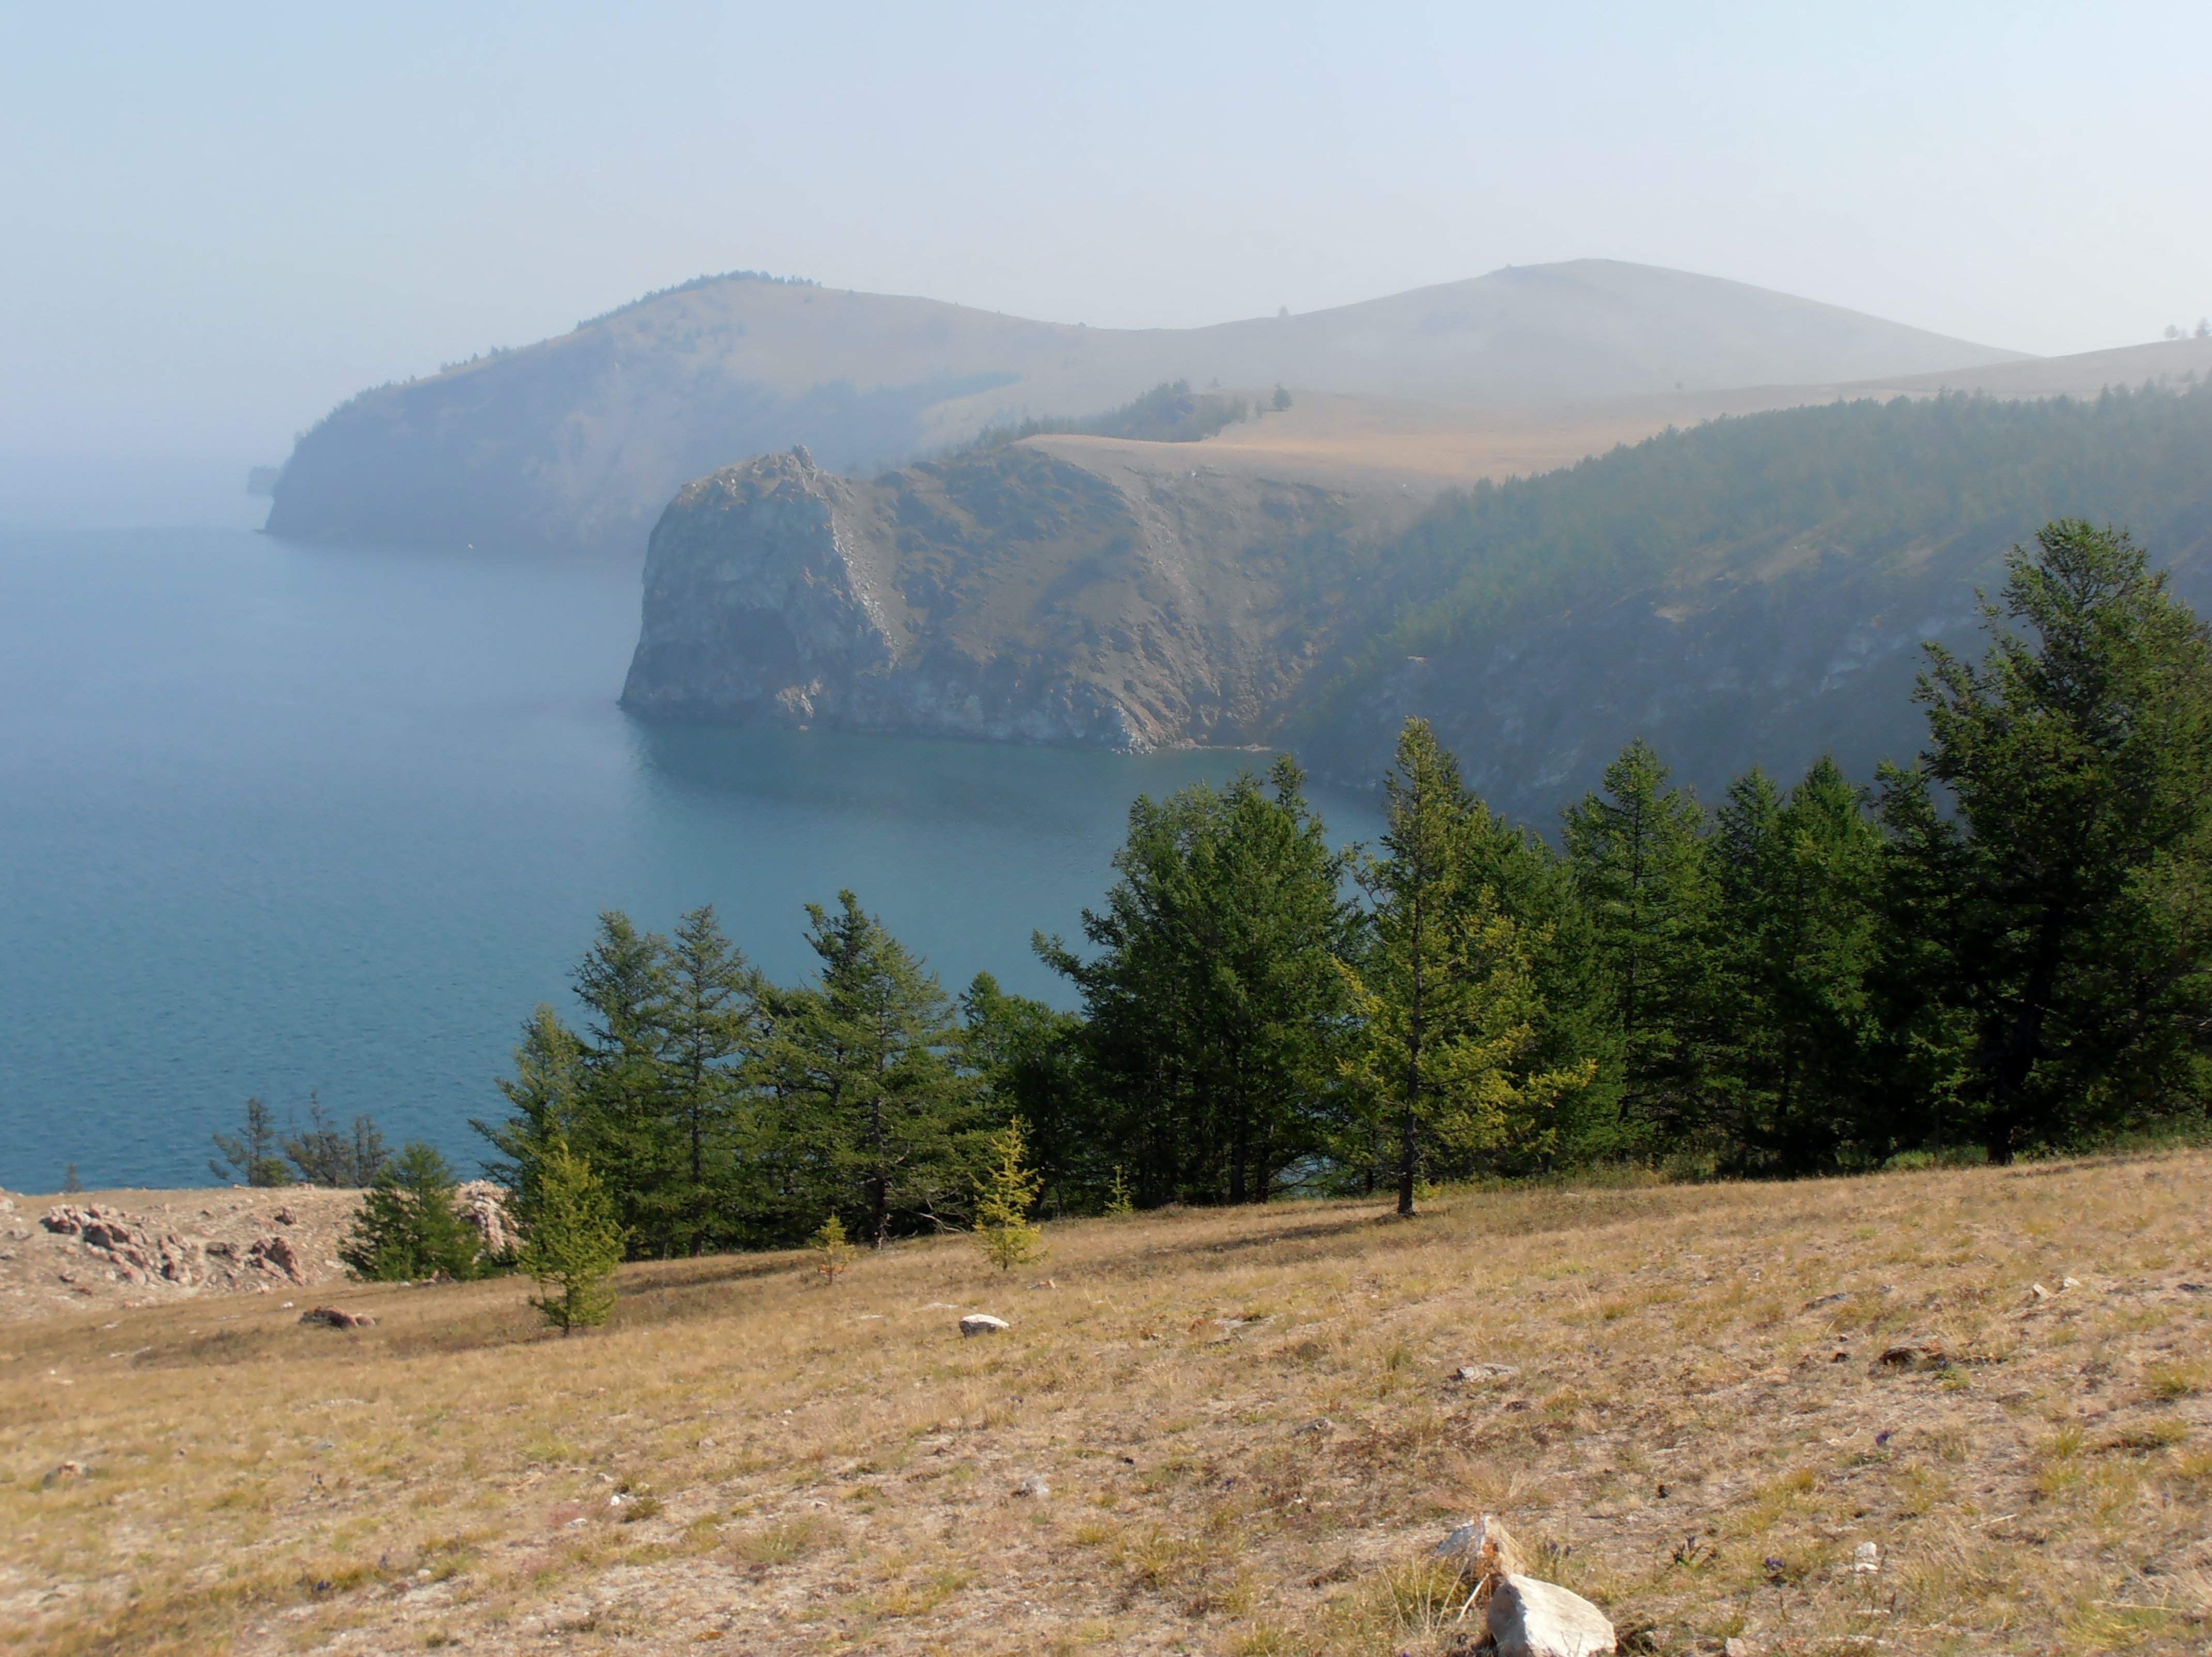
M 2008 1161 L 2201 1111 L 2212 637 L 2126 533 L 2086 522 L 2013 549 L 1984 617 L 1980 664 L 1929 646 L 1929 752 L 1885 774 L 1885 821 L 1940 940 L 1922 965 L 1969 1031 L 1958 1104 Z

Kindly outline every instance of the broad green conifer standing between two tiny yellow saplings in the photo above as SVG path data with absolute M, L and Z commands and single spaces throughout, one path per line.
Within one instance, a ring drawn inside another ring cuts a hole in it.
M 894 1221 L 960 1203 L 975 1086 L 953 1064 L 958 1026 L 933 973 L 883 923 L 838 894 L 807 905 L 818 982 L 776 1002 L 783 1130 L 801 1146 L 821 1208 L 858 1201 L 867 1241 Z

